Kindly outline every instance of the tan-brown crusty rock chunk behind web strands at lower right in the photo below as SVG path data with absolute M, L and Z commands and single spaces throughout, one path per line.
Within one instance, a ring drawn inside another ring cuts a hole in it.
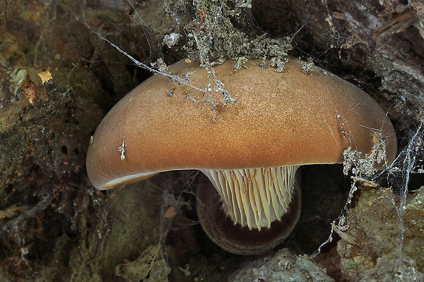
M 405 235 L 401 257 L 410 257 L 419 272 L 424 270 L 423 210 L 414 208 L 419 203 L 422 189 L 408 195 L 408 208 L 404 219 Z M 393 203 L 399 196 L 387 189 L 360 191 L 354 208 L 347 215 L 347 234 L 356 238 L 356 245 L 345 240 L 338 243 L 343 270 L 351 278 L 358 277 L 364 270 L 377 268 L 378 257 L 391 257 L 396 261 L 399 255 L 399 218 Z M 354 263 L 353 263 L 354 262 Z M 349 266 L 349 267 L 347 267 Z M 381 266 L 381 265 L 380 265 Z

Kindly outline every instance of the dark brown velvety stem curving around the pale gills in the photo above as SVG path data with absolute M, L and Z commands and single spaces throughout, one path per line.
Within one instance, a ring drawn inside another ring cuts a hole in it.
M 258 255 L 274 249 L 291 234 L 300 216 L 299 173 L 295 175 L 289 208 L 269 228 L 249 229 L 235 223 L 222 209 L 222 199 L 211 181 L 200 177 L 197 212 L 204 232 L 215 244 L 230 253 Z

